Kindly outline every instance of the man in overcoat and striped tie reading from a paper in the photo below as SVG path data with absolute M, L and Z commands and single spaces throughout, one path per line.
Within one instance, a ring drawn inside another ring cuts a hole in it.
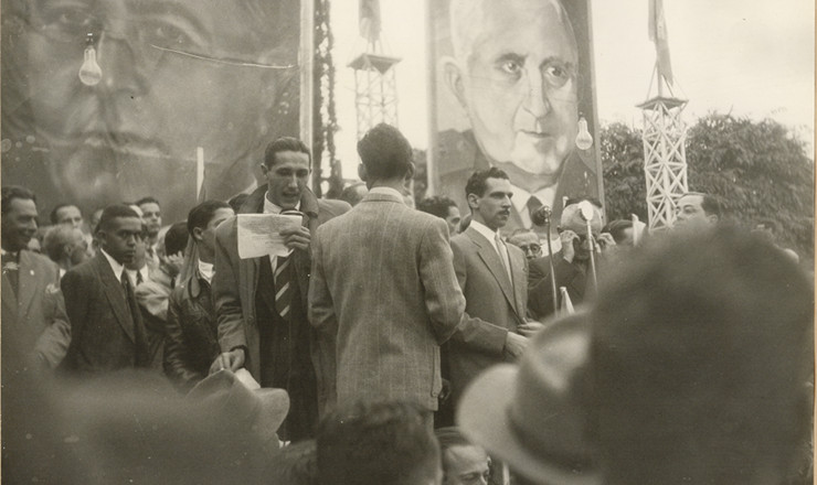
M 282 439 L 290 441 L 312 435 L 318 410 L 333 394 L 333 343 L 320 340 L 307 323 L 310 245 L 318 226 L 350 208 L 315 196 L 307 187 L 310 166 L 300 140 L 269 143 L 261 165 L 266 184 L 215 235 L 213 303 L 222 354 L 211 371 L 245 367 L 262 387 L 286 389 L 291 407 Z M 290 211 L 303 215 L 303 225 L 280 231 L 288 256 L 238 256 L 241 214 Z

